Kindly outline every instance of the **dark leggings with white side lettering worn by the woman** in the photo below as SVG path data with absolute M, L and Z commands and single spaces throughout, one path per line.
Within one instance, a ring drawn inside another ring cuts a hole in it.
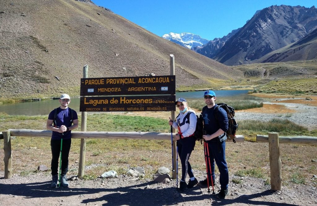
M 191 152 L 194 150 L 196 139 L 194 137 L 185 137 L 177 140 L 177 150 L 180 161 L 182 163 L 182 181 L 185 181 L 188 173 L 189 177 L 194 177 L 191 171 L 191 164 L 188 162 Z

